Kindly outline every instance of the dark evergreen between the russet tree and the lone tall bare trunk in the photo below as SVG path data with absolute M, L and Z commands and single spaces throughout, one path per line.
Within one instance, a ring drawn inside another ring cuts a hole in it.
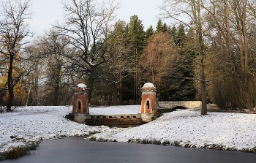
M 170 90 L 168 92 L 170 100 L 194 100 L 197 93 L 195 88 L 195 53 L 189 46 L 189 39 L 184 31 L 184 26 L 175 26 L 172 29 L 176 37 L 175 43 L 179 48 L 180 59 L 174 63 L 176 74 L 170 77 Z

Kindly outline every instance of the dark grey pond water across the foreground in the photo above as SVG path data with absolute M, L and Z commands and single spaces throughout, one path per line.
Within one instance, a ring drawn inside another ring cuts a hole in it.
M 10 159 L 1 163 L 76 163 L 76 162 L 256 162 L 256 154 L 236 151 L 218 151 L 198 148 L 181 148 L 172 145 L 143 145 L 134 143 L 108 143 L 86 141 L 83 137 L 65 137 L 46 140 L 39 144 L 32 155 Z

